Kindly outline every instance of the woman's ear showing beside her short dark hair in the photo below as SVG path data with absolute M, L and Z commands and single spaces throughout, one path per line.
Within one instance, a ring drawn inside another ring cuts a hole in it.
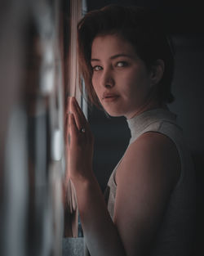
M 164 61 L 161 59 L 155 61 L 155 64 L 152 66 L 151 70 L 151 86 L 159 83 L 159 81 L 162 79 L 164 68 Z

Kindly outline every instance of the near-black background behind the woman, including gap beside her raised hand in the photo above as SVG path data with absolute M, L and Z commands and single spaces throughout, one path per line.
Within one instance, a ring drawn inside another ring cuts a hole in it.
M 88 0 L 88 11 L 108 4 L 137 5 L 161 12 L 166 31 L 175 47 L 175 76 L 172 92 L 175 101 L 169 105 L 177 115 L 193 156 L 197 176 L 197 239 L 193 255 L 204 255 L 204 18 L 201 2 L 193 1 L 95 1 Z M 95 108 L 89 115 L 95 136 L 94 169 L 101 189 L 121 158 L 130 138 L 124 118 L 107 118 Z

